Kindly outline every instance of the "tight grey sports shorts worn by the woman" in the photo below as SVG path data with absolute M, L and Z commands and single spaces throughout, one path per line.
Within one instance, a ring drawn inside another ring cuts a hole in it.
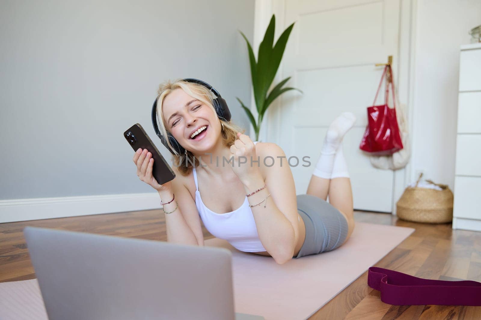
M 347 237 L 347 221 L 329 202 L 312 195 L 297 195 L 297 211 L 305 224 L 305 240 L 294 259 L 334 250 Z

